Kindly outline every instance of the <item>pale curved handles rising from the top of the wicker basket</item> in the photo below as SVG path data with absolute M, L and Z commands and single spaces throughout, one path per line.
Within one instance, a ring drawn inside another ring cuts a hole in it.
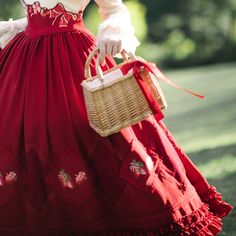
M 86 60 L 86 63 L 85 63 L 85 68 L 84 68 L 84 75 L 85 75 L 85 78 L 86 78 L 86 81 L 89 81 L 89 80 L 92 80 L 92 76 L 91 76 L 91 69 L 90 69 L 90 64 L 91 64 L 91 61 L 92 61 L 92 58 L 98 53 L 98 57 L 97 57 L 97 60 L 96 60 L 96 73 L 98 74 L 100 80 L 103 80 L 103 71 L 100 67 L 100 61 L 101 61 L 101 58 L 100 58 L 100 55 L 99 55 L 99 48 L 96 47 L 91 53 L 90 55 L 88 56 L 87 60 Z M 122 58 L 124 61 L 128 61 L 129 60 L 129 57 L 132 59 L 132 60 L 136 60 L 137 57 L 135 54 L 131 53 L 131 52 L 126 52 L 124 49 L 120 52 L 121 55 L 122 55 Z M 129 56 L 129 57 L 128 57 Z

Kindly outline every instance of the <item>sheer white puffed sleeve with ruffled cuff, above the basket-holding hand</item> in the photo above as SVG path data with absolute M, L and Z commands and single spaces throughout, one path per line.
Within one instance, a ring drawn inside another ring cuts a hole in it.
M 135 29 L 131 23 L 130 15 L 122 0 L 95 0 L 99 6 L 99 13 L 103 19 L 98 27 L 97 41 L 104 38 L 119 38 L 122 48 L 135 53 L 140 45 L 135 36 Z M 121 57 L 118 53 L 116 57 Z

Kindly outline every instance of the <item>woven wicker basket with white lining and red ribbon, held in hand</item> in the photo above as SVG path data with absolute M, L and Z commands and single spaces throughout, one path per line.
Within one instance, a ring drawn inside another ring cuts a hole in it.
M 96 60 L 98 75 L 92 77 L 90 64 L 98 52 L 99 49 L 96 48 L 89 55 L 85 64 L 86 80 L 81 85 L 83 86 L 89 124 L 104 137 L 145 119 L 152 111 L 133 76 L 132 70 L 125 76 L 120 70 L 122 65 L 138 57 L 130 53 L 122 53 L 123 63 L 102 72 L 98 56 Z M 165 109 L 167 103 L 156 77 L 145 68 L 142 68 L 140 75 L 158 102 L 160 109 Z

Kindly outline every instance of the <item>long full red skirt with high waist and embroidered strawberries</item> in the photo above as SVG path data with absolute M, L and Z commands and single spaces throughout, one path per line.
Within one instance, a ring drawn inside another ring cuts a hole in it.
M 47 13 L 0 54 L 0 235 L 217 235 L 232 206 L 161 120 L 105 138 L 89 127 L 95 36 L 82 15 L 60 27 Z

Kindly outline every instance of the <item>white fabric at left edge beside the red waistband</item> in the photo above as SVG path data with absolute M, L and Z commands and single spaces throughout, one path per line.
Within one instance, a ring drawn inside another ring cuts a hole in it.
M 4 48 L 19 32 L 24 31 L 27 26 L 27 18 L 8 21 L 0 21 L 0 48 Z

